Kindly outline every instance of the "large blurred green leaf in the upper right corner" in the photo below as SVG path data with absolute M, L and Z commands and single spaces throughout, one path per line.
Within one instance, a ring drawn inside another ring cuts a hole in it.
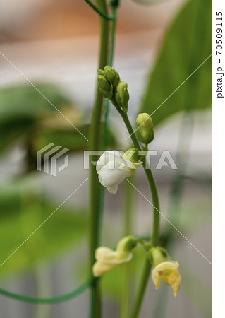
M 181 110 L 203 110 L 212 105 L 211 20 L 212 1 L 190 0 L 166 33 L 141 105 L 142 112 L 152 114 L 156 110 L 152 114 L 154 125 Z

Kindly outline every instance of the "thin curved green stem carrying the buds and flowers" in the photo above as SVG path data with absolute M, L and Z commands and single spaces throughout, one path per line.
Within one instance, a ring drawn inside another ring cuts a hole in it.
M 133 131 L 133 127 L 130 124 L 130 120 L 128 119 L 128 115 L 126 113 L 124 113 L 120 107 L 118 107 L 115 100 L 113 100 L 112 102 L 114 103 L 116 110 L 118 110 L 119 114 L 121 114 L 121 117 L 123 118 L 123 122 L 126 124 L 126 127 L 128 129 L 128 133 L 130 134 L 130 138 L 133 141 L 133 145 L 135 146 L 135 148 L 142 150 L 142 148 L 140 147 L 140 144 L 138 142 L 138 139 L 136 138 L 135 133 Z M 150 170 L 150 167 L 147 165 L 147 160 L 145 157 L 143 158 L 143 167 L 144 167 L 145 175 L 146 175 L 147 181 L 150 185 L 150 190 L 151 190 L 151 194 L 152 194 L 153 225 L 152 225 L 151 243 L 152 243 L 152 246 L 157 246 L 158 240 L 159 240 L 159 196 L 158 196 L 156 184 L 154 182 L 154 177 L 152 175 L 152 171 Z M 137 298 L 135 300 L 135 304 L 133 306 L 133 311 L 132 311 L 132 314 L 130 316 L 131 318 L 138 317 L 138 314 L 140 312 L 140 307 L 142 305 L 142 300 L 143 300 L 144 295 L 145 295 L 145 290 L 147 287 L 147 280 L 150 276 L 151 267 L 152 266 L 150 264 L 150 261 L 148 259 L 146 259 L 145 266 L 144 266 L 143 271 L 142 271 L 142 278 L 140 280 L 140 285 L 138 288 Z

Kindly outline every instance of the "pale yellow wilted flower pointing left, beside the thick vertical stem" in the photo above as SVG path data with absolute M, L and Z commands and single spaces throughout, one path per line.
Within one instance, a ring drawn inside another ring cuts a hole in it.
M 97 260 L 92 268 L 94 276 L 102 276 L 107 271 L 111 271 L 114 267 L 121 266 L 132 259 L 132 252 L 119 253 L 113 251 L 109 247 L 98 247 L 95 251 L 95 259 Z

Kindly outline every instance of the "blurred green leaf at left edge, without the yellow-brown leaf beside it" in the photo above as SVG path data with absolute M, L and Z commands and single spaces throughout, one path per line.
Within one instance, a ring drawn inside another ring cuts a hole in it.
M 59 110 L 69 104 L 59 88 L 35 83 L 37 89 Z M 21 136 L 30 135 L 32 126 L 57 110 L 30 85 L 18 85 L 0 90 L 0 152 Z M 63 119 L 65 120 L 65 119 Z

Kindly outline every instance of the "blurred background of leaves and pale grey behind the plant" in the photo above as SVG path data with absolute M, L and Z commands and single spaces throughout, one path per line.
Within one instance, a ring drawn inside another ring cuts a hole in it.
M 212 58 L 207 58 L 212 53 L 212 4 L 148 2 L 152 1 L 121 1 L 114 67 L 128 82 L 131 121 L 135 124 L 139 112 L 156 110 L 151 149 L 158 155 L 152 156 L 151 167 L 160 210 L 211 261 Z M 83 169 L 87 140 L 54 106 L 88 138 L 99 21 L 83 0 L 4 0 L 0 21 L 0 286 L 24 295 L 61 295 L 88 276 L 88 181 L 4 261 L 88 176 Z M 111 107 L 109 148 L 126 151 L 127 138 Z M 68 167 L 56 177 L 36 169 L 36 153 L 49 143 L 69 149 Z M 177 170 L 169 164 L 156 168 L 164 150 L 171 153 Z M 151 201 L 141 169 L 133 182 Z M 126 196 L 132 198 L 132 234 L 150 234 L 152 207 L 123 182 L 115 196 L 105 193 L 104 246 L 114 247 L 124 236 Z M 212 266 L 163 218 L 161 228 L 161 244 L 180 263 L 181 290 L 175 299 L 169 286 L 162 284 L 155 291 L 150 281 L 140 318 L 212 317 Z M 137 250 L 129 265 L 130 307 L 142 261 Z M 120 317 L 126 266 L 102 278 L 103 318 Z M 88 290 L 55 305 L 32 305 L 0 295 L 3 318 L 86 318 L 88 304 Z

